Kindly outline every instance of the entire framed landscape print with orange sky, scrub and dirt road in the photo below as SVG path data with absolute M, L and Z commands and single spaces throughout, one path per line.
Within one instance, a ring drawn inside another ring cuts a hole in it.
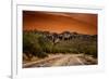
M 97 14 L 23 11 L 23 68 L 97 65 Z

